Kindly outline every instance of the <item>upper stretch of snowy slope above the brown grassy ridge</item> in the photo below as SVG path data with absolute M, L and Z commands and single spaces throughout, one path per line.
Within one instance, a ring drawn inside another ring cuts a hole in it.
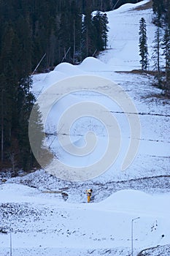
M 155 26 L 152 24 L 152 14 L 147 6 L 150 1 L 138 4 L 124 4 L 118 10 L 107 12 L 109 18 L 108 50 L 101 53 L 99 59 L 112 65 L 115 71 L 139 69 L 139 20 L 143 17 L 147 24 L 147 44 L 149 46 L 150 68 L 152 68 L 152 43 Z M 122 33 L 123 32 L 123 33 Z

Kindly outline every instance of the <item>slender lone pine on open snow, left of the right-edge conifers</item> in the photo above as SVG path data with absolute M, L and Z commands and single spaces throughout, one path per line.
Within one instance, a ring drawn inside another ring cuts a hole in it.
M 147 50 L 147 28 L 144 18 L 141 18 L 139 21 L 139 55 L 141 56 L 140 64 L 142 65 L 142 70 L 146 70 L 149 63 Z

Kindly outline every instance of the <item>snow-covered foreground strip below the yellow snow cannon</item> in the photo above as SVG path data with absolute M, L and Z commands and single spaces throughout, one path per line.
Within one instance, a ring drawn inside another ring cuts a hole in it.
M 101 203 L 67 203 L 38 189 L 1 185 L 1 255 L 130 255 L 131 220 L 134 252 L 168 244 L 170 194 L 116 192 Z M 3 232 L 7 232 L 3 233 Z M 94 253 L 93 253 L 94 252 Z M 4 254 L 3 254 L 4 253 Z

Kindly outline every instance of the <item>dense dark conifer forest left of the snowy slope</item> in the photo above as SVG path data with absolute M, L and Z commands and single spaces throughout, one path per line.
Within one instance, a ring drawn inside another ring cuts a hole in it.
M 0 169 L 36 165 L 28 140 L 34 105 L 31 74 L 73 64 L 107 47 L 107 15 L 116 0 L 0 1 Z M 115 5 L 117 3 L 117 5 Z M 94 10 L 99 10 L 92 15 Z M 102 12 L 100 12 L 102 11 Z M 42 130 L 37 109 L 37 129 Z

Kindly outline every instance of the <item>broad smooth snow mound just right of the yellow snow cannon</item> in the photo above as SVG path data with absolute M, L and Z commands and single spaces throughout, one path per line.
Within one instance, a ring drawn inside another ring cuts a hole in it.
M 104 211 L 120 211 L 140 217 L 169 217 L 167 211 L 167 200 L 170 194 L 165 195 L 148 195 L 141 191 L 133 189 L 124 189 L 115 192 L 107 197 L 104 201 L 96 203 L 96 208 Z M 165 210 L 166 209 L 166 210 Z

